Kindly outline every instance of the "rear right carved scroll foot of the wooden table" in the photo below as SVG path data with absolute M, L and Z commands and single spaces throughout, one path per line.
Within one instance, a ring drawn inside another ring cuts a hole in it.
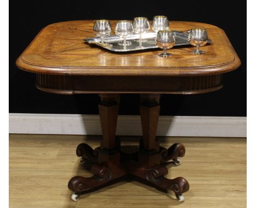
M 185 151 L 185 147 L 181 143 L 175 143 L 168 149 L 160 147 L 161 162 L 173 160 L 174 164 L 181 164 L 178 157 L 184 157 Z

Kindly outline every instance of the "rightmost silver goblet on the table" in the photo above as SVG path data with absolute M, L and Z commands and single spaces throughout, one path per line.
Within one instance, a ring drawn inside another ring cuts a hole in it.
M 207 44 L 208 35 L 206 29 L 203 28 L 193 28 L 190 30 L 188 35 L 189 43 L 196 46 L 196 50 L 190 51 L 194 54 L 204 54 L 204 51 L 200 51 L 199 47 Z

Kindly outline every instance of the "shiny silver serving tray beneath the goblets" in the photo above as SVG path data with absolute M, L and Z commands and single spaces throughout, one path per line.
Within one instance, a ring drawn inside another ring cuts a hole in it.
M 120 46 L 118 45 L 118 42 L 122 41 L 118 35 L 110 35 L 107 36 L 104 39 L 104 42 L 106 42 L 108 45 L 101 44 L 101 38 L 86 38 L 84 39 L 85 42 L 88 44 L 95 44 L 98 46 L 101 46 L 103 48 L 106 48 L 110 51 L 116 51 L 116 52 L 126 52 L 126 51 L 138 51 L 138 50 L 146 50 L 149 48 L 158 48 L 156 46 L 156 32 L 149 32 L 146 34 L 143 34 L 143 39 L 147 39 L 146 42 L 142 42 L 141 44 L 139 42 L 134 41 L 135 39 L 139 38 L 139 34 L 132 34 L 127 36 L 126 40 L 129 40 L 132 42 L 130 46 Z M 182 45 L 190 45 L 188 42 L 188 33 L 186 32 L 179 32 L 174 31 L 175 36 L 175 46 L 182 46 Z M 212 41 L 210 39 L 207 40 L 207 43 L 211 43 Z

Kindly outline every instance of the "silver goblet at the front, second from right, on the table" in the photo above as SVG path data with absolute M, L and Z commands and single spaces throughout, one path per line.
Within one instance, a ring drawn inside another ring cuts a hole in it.
M 159 48 L 164 49 L 164 53 L 159 53 L 160 57 L 168 57 L 171 56 L 171 53 L 167 53 L 166 51 L 172 48 L 175 45 L 175 36 L 172 30 L 159 30 L 156 35 L 156 45 Z

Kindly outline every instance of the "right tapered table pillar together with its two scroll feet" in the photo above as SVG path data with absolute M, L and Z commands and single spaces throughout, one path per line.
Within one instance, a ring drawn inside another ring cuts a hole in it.
M 170 189 L 176 194 L 179 201 L 183 201 L 183 193 L 189 190 L 189 183 L 186 179 L 178 177 L 167 179 L 164 177 L 168 173 L 167 168 L 162 164 L 168 160 L 173 160 L 179 164 L 178 157 L 185 155 L 185 148 L 182 144 L 173 144 L 170 148 L 162 148 L 156 139 L 156 130 L 160 112 L 159 94 L 142 94 L 141 105 L 141 125 L 143 139 L 140 142 L 138 162 L 140 167 L 135 169 L 133 174 L 139 178 L 148 180 L 156 187 Z

